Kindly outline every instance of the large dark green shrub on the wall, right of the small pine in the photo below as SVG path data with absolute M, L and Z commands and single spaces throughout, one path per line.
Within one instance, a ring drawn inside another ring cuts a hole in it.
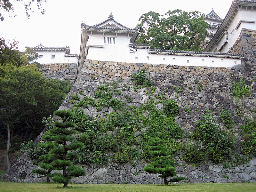
M 235 136 L 220 129 L 213 116 L 205 115 L 195 125 L 196 134 L 206 145 L 206 153 L 209 158 L 220 163 L 225 157 L 230 157 L 235 149 Z

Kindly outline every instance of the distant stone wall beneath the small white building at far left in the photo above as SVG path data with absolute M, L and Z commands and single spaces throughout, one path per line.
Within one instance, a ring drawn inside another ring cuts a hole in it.
M 54 63 L 41 64 L 40 71 L 44 76 L 50 79 L 66 80 L 70 79 L 72 82 L 76 79 L 77 64 L 76 63 Z

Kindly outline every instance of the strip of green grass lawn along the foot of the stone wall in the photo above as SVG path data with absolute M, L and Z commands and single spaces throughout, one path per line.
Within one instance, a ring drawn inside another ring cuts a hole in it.
M 0 181 L 0 192 L 255 192 L 256 183 L 209 183 L 209 184 L 61 184 L 14 183 Z

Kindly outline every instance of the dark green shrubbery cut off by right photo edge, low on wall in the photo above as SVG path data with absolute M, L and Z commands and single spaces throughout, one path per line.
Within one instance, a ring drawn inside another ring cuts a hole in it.
M 247 124 L 241 126 L 243 139 L 241 140 L 244 154 L 256 155 L 256 116 L 249 120 Z

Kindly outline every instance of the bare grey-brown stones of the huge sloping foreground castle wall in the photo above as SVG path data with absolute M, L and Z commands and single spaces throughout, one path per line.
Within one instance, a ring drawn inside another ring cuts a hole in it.
M 149 96 L 146 93 L 147 88 L 138 88 L 134 90 L 134 83 L 131 81 L 131 74 L 145 68 L 148 71 L 148 77 L 154 80 L 156 92 L 150 97 L 156 103 L 158 99 L 156 95 L 160 92 L 164 93 L 165 99 L 175 99 L 181 106 L 179 116 L 175 118 L 175 122 L 182 129 L 188 132 L 195 130 L 194 123 L 205 115 L 205 109 L 212 110 L 212 114 L 217 120 L 222 109 L 232 111 L 233 119 L 236 125 L 230 128 L 229 131 L 234 132 L 236 140 L 236 153 L 245 157 L 241 153 L 241 132 L 240 126 L 244 123 L 244 117 L 252 118 L 256 109 L 256 62 L 255 62 L 255 31 L 243 30 L 236 44 L 230 52 L 244 54 L 245 59 L 241 66 L 237 68 L 214 68 L 214 67 L 192 67 L 192 66 L 170 66 L 157 65 L 152 66 L 146 63 L 121 63 L 107 62 L 97 60 L 86 60 L 84 66 L 69 92 L 66 99 L 60 106 L 60 109 L 72 108 L 70 102 L 70 94 L 83 92 L 84 95 L 93 97 L 97 86 L 105 83 L 113 83 L 117 81 L 118 90 L 121 90 L 121 95 L 116 95 L 119 100 L 126 102 L 123 95 L 128 95 L 132 98 L 129 105 L 140 106 L 142 103 L 149 101 Z M 250 44 L 250 46 L 249 46 Z M 198 79 L 203 85 L 201 91 L 198 90 L 198 84 L 195 84 L 195 79 Z M 243 78 L 245 84 L 250 86 L 251 95 L 239 99 L 238 102 L 232 95 L 232 81 L 239 81 Z M 128 85 L 124 89 L 124 83 Z M 182 86 L 183 92 L 176 93 L 172 86 Z M 80 99 L 84 96 L 78 94 Z M 178 98 L 177 98 L 178 95 Z M 163 104 L 156 104 L 158 109 L 163 108 Z M 191 108 L 191 113 L 184 111 L 185 107 Z M 196 110 L 197 111 L 196 111 Z M 97 111 L 96 107 L 89 105 L 84 111 L 97 118 L 103 113 L 114 111 L 111 107 L 102 108 Z M 239 113 L 237 112 L 239 111 Z M 218 121 L 218 123 L 221 123 Z M 221 127 L 224 128 L 223 124 Z M 143 130 L 142 130 L 143 131 Z M 141 132 L 136 132 L 136 136 L 140 137 Z M 40 140 L 40 137 L 37 138 Z M 177 140 L 179 142 L 180 140 Z M 140 146 L 137 146 L 138 150 Z M 234 165 L 231 168 L 223 168 L 223 164 L 214 164 L 210 160 L 198 166 L 187 164 L 183 161 L 182 152 L 174 157 L 178 163 L 177 175 L 187 178 L 186 182 L 204 183 L 204 182 L 256 182 L 256 158 L 247 160 L 245 164 Z M 231 159 L 228 159 L 231 161 Z M 73 183 L 163 183 L 163 179 L 157 174 L 148 174 L 143 171 L 145 164 L 137 162 L 135 166 L 131 164 L 109 164 L 104 167 L 84 166 L 86 176 L 73 178 Z M 4 179 L 12 181 L 24 182 L 41 182 L 44 181 L 39 175 L 31 173 L 32 168 L 36 166 L 31 164 L 24 154 L 11 168 Z M 225 175 L 225 177 L 224 177 Z M 227 178 L 228 177 L 228 178 Z

